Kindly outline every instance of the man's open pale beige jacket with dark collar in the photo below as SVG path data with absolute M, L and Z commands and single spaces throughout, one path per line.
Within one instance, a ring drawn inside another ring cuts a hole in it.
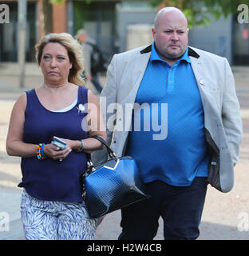
M 132 106 L 151 49 L 152 46 L 144 46 L 115 54 L 109 65 L 100 104 L 108 143 L 118 157 L 125 151 Z M 228 192 L 234 184 L 234 166 L 243 134 L 234 77 L 226 58 L 192 47 L 189 47 L 188 55 L 204 107 L 205 135 L 210 154 L 207 182 L 217 190 Z M 167 155 L 167 152 L 162 154 Z M 93 163 L 104 162 L 107 158 L 106 150 L 92 154 Z

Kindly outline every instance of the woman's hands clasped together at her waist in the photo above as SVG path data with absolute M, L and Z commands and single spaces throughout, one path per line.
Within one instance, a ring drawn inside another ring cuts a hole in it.
M 59 147 L 50 143 L 50 144 L 46 144 L 43 147 L 43 151 L 46 157 L 52 158 L 53 160 L 62 161 L 70 154 L 72 149 L 67 145 L 64 150 L 61 150 Z

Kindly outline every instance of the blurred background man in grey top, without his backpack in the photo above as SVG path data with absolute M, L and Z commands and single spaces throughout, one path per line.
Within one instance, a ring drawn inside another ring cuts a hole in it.
M 102 86 L 98 79 L 99 70 L 93 70 L 92 55 L 94 51 L 94 46 L 96 46 L 96 41 L 93 38 L 89 38 L 86 30 L 78 30 L 76 34 L 77 40 L 81 43 L 84 53 L 84 66 L 85 66 L 85 78 L 90 82 L 93 82 L 93 86 L 99 94 L 101 94 Z

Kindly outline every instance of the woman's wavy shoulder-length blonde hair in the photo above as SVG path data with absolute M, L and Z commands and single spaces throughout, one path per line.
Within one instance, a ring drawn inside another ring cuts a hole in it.
M 42 51 L 46 44 L 49 42 L 60 43 L 64 46 L 69 54 L 69 61 L 72 64 L 72 68 L 69 70 L 69 82 L 72 82 L 78 86 L 85 86 L 85 81 L 81 77 L 81 72 L 84 70 L 83 64 L 83 52 L 82 47 L 76 39 L 68 33 L 51 33 L 46 34 L 39 42 L 35 45 L 36 59 L 38 65 L 41 63 Z

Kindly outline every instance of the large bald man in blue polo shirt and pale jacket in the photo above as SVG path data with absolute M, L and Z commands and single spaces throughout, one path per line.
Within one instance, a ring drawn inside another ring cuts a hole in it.
M 136 159 L 151 195 L 121 210 L 120 239 L 154 238 L 160 216 L 165 239 L 196 239 L 207 183 L 233 186 L 242 139 L 234 78 L 226 58 L 188 46 L 188 31 L 184 14 L 166 7 L 152 46 L 116 54 L 109 66 L 101 94 L 108 142 Z M 105 150 L 93 154 L 105 159 Z

